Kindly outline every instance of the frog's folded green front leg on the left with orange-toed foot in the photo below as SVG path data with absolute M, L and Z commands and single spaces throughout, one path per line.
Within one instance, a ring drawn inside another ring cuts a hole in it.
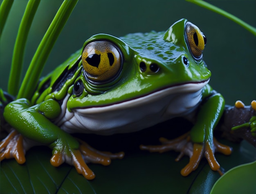
M 60 112 L 60 105 L 53 99 L 48 99 L 35 106 L 30 106 L 27 99 L 18 99 L 5 107 L 4 119 L 22 136 L 52 148 L 53 155 L 50 160 L 52 165 L 59 166 L 63 162 L 74 165 L 77 172 L 83 174 L 86 179 L 94 179 L 95 175 L 85 161 L 108 165 L 111 159 L 124 156 L 123 152 L 112 154 L 94 150 L 83 141 L 75 139 L 72 135 L 61 130 L 51 121 L 56 119 Z M 13 138 L 9 137 L 9 139 L 2 141 L 2 145 L 6 146 L 10 139 L 13 142 Z M 18 144 L 16 145 L 18 146 Z M 7 158 L 4 156 L 4 153 L 7 152 L 3 146 L 1 148 L 1 160 Z M 16 150 L 22 152 L 22 149 Z

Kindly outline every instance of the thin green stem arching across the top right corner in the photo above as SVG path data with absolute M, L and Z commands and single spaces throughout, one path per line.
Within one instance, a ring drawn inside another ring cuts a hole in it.
M 243 26 L 245 29 L 247 29 L 249 32 L 251 32 L 252 34 L 254 34 L 256 36 L 256 28 L 254 26 L 251 26 L 249 24 L 247 24 L 246 22 L 244 22 L 243 20 L 239 19 L 238 17 L 228 13 L 227 11 L 224 11 L 212 4 L 209 4 L 208 2 L 205 2 L 203 0 L 186 0 L 188 2 L 197 4 L 198 6 L 204 7 L 206 9 L 209 9 L 211 11 L 214 11 L 220 15 L 225 16 L 226 18 L 229 18 L 230 20 L 236 22 L 237 24 Z

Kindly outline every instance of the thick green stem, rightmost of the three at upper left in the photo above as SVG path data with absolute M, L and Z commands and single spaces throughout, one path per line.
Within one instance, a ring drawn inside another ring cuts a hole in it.
M 64 0 L 58 12 L 56 13 L 47 32 L 41 40 L 34 57 L 31 60 L 25 78 L 23 79 L 17 99 L 30 99 L 36 88 L 36 83 L 42 73 L 43 66 L 51 52 L 58 35 L 61 33 L 70 14 L 76 6 L 78 0 Z

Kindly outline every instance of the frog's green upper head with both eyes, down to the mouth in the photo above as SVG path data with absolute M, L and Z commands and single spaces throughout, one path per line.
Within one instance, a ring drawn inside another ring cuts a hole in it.
M 81 51 L 83 70 L 67 107 L 103 107 L 156 93 L 197 92 L 211 76 L 202 60 L 205 44 L 204 34 L 185 19 L 165 32 L 94 35 Z

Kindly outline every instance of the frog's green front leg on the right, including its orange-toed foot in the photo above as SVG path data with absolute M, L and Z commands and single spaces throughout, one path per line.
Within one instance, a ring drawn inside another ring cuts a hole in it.
M 160 141 L 163 145 L 141 146 L 141 149 L 150 152 L 180 151 L 181 154 L 176 161 L 180 160 L 184 154 L 189 155 L 189 163 L 181 170 L 183 176 L 187 176 L 193 170 L 196 170 L 203 156 L 207 158 L 212 170 L 220 172 L 220 165 L 214 156 L 214 152 L 229 155 L 231 154 L 231 148 L 213 138 L 213 129 L 223 113 L 225 101 L 219 93 L 211 93 L 200 107 L 195 125 L 189 133 L 171 141 L 161 138 Z

